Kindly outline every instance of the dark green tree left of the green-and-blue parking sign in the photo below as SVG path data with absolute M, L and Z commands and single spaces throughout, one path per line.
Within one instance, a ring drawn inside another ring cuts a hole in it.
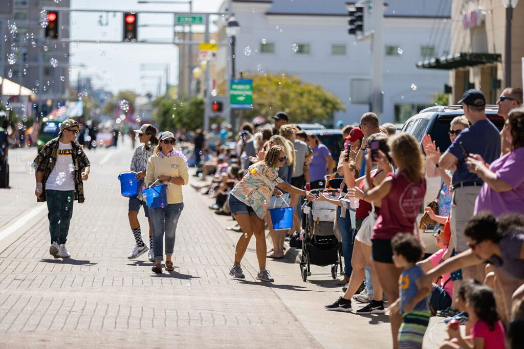
M 204 101 L 200 98 L 184 103 L 177 99 L 160 97 L 153 104 L 156 106 L 153 121 L 161 131 L 182 128 L 194 131 L 204 124 Z

